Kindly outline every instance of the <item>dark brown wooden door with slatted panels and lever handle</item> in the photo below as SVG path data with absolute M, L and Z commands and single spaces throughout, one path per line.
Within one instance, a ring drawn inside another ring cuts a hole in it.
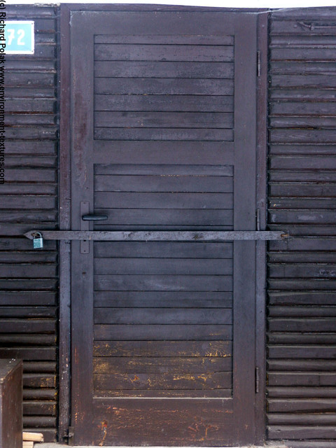
M 255 230 L 255 15 L 73 11 L 70 51 L 73 230 Z M 253 442 L 255 243 L 71 251 L 75 444 Z

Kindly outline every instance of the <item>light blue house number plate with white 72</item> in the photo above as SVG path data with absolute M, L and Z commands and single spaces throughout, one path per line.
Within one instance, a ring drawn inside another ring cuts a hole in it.
M 7 55 L 34 55 L 34 22 L 6 20 L 5 43 Z

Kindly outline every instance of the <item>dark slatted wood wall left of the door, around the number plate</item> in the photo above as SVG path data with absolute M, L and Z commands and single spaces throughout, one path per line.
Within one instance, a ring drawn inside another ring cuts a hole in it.
M 43 426 L 48 442 L 55 440 L 57 423 L 57 244 L 45 241 L 46 251 L 38 255 L 22 234 L 31 225 L 57 225 L 58 10 L 8 6 L 6 14 L 8 20 L 34 20 L 36 46 L 34 55 L 6 56 L 0 356 L 24 359 L 24 427 Z

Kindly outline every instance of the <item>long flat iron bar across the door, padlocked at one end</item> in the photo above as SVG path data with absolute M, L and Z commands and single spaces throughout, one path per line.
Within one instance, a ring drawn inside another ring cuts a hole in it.
M 31 230 L 25 237 L 33 239 L 41 233 L 43 239 L 80 239 L 94 241 L 247 241 L 288 238 L 286 232 L 255 232 L 237 230 L 228 232 L 110 232 L 80 230 Z

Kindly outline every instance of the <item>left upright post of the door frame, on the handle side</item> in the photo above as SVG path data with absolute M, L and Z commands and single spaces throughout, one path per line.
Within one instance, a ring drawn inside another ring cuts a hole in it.
M 70 230 L 70 8 L 62 4 L 60 9 L 59 229 Z M 71 424 L 70 248 L 70 241 L 59 241 L 59 442 L 68 439 Z

